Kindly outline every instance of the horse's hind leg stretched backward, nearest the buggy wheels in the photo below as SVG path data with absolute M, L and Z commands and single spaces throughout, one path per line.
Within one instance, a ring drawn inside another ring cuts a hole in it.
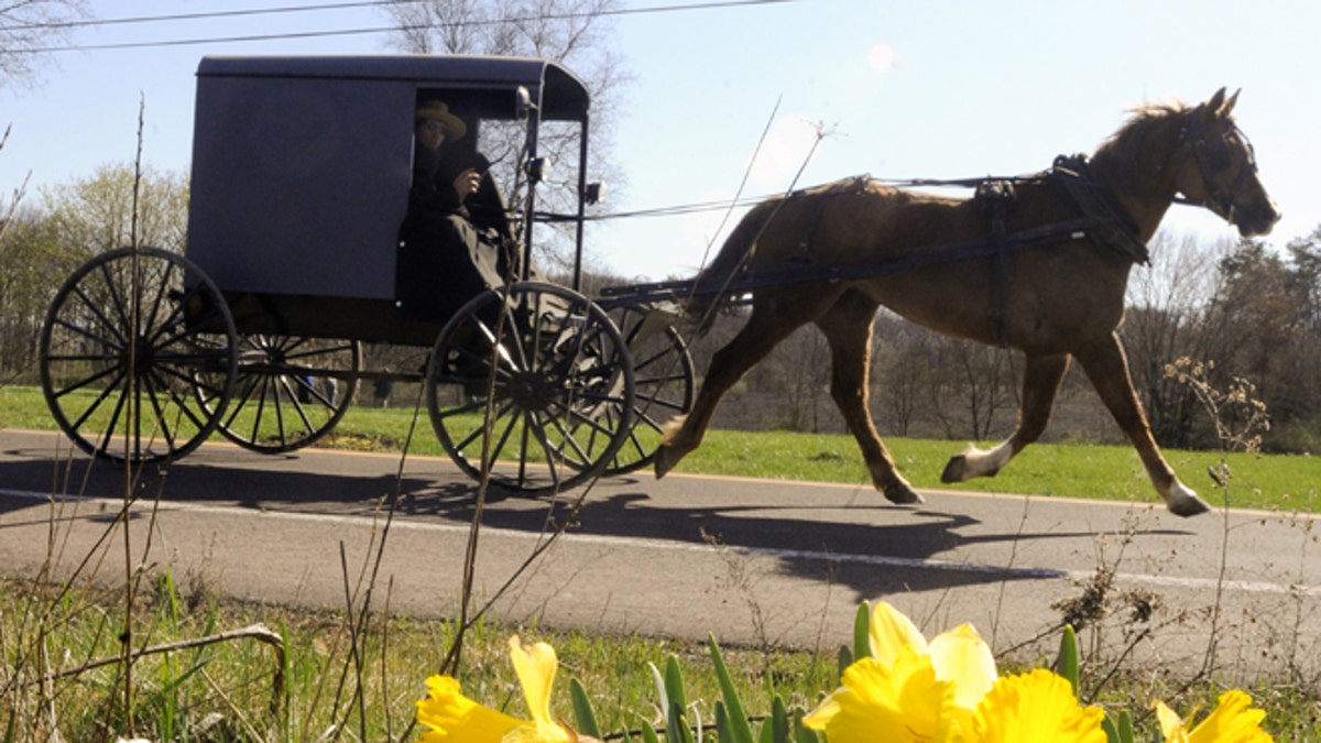
M 785 308 L 795 308 L 793 315 Z M 752 316 L 734 340 L 711 357 L 711 368 L 701 381 L 701 390 L 687 415 L 664 426 L 664 442 L 655 455 L 657 477 L 664 477 L 688 452 L 701 444 L 711 416 L 729 387 L 765 358 L 779 341 L 811 319 L 802 303 L 765 301 L 753 304 Z

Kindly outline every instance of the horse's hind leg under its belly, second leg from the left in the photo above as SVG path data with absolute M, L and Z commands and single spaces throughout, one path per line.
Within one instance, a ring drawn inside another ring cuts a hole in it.
M 898 473 L 894 457 L 885 450 L 867 407 L 867 374 L 876 307 L 875 301 L 863 295 L 845 293 L 830 312 L 816 320 L 816 327 L 826 334 L 831 349 L 830 394 L 863 450 L 863 459 L 867 460 L 876 489 L 892 502 L 919 504 L 922 496 Z

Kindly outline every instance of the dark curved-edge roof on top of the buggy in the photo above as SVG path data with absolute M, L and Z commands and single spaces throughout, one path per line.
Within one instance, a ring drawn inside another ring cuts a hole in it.
M 458 90 L 513 90 L 540 98 L 542 119 L 584 120 L 587 86 L 557 62 L 534 57 L 433 54 L 203 57 L 198 77 L 411 81 Z M 538 91 L 540 95 L 538 97 Z

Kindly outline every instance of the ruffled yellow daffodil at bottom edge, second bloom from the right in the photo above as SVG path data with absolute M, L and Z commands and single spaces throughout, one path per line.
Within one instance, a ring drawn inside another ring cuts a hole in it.
M 1082 707 L 1065 677 L 1046 669 L 1009 676 L 978 705 L 972 743 L 1106 743 L 1106 713 Z

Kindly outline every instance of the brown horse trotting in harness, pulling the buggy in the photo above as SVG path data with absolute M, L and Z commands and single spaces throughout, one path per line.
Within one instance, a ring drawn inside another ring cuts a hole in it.
M 692 411 L 670 423 L 657 476 L 701 443 L 734 382 L 799 325 L 815 323 L 831 348 L 831 397 L 863 450 L 872 483 L 896 504 L 921 502 L 896 471 L 867 407 L 872 325 L 885 305 L 942 333 L 1026 356 L 1017 430 L 988 451 L 970 446 L 952 457 L 945 483 L 995 475 L 1037 440 L 1070 358 L 1077 358 L 1169 510 L 1207 510 L 1161 456 L 1115 331 L 1128 271 L 1145 262 L 1145 243 L 1172 204 L 1205 206 L 1244 237 L 1267 234 L 1279 221 L 1252 148 L 1230 116 L 1236 99 L 1222 89 L 1198 106 L 1144 107 L 1090 161 L 1079 157 L 1070 168 L 983 184 L 972 198 L 855 180 L 757 205 L 696 287 L 709 297 L 712 287 L 737 288 L 741 279 L 773 280 L 742 284 L 754 287 L 752 315 L 712 358 Z M 818 280 L 793 280 L 795 275 Z M 701 296 L 690 309 L 709 304 Z

